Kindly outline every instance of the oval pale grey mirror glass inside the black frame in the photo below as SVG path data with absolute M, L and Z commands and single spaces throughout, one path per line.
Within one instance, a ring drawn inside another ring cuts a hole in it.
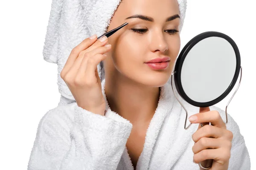
M 183 61 L 182 88 L 195 102 L 210 102 L 231 85 L 236 64 L 230 42 L 221 37 L 207 37 L 197 42 Z

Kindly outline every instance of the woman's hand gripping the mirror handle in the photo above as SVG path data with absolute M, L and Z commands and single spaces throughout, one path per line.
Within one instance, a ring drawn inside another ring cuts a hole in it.
M 227 170 L 233 133 L 227 130 L 219 112 L 210 111 L 209 107 L 200 108 L 199 113 L 192 116 L 195 116 L 195 121 L 189 121 L 199 123 L 198 130 L 192 135 L 195 142 L 192 147 L 193 161 L 195 163 L 201 162 L 203 167 L 209 167 L 209 165 L 205 165 L 207 162 L 209 163 L 209 159 L 213 159 L 212 167 L 209 170 Z M 204 125 L 203 127 L 201 127 L 201 123 Z M 203 169 L 200 168 L 200 170 Z

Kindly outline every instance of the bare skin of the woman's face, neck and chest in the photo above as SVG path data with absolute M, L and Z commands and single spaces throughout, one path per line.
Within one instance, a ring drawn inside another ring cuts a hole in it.
M 135 14 L 152 17 L 154 22 L 131 18 Z M 180 18 L 177 0 L 123 0 L 114 13 L 107 31 L 129 24 L 108 38 L 112 45 L 104 60 L 105 94 L 112 111 L 128 119 L 133 128 L 126 147 L 134 169 L 143 150 L 148 125 L 159 101 L 160 88 L 168 82 L 180 50 Z M 131 29 L 146 29 L 143 34 Z M 167 32 L 167 30 L 171 30 Z M 170 57 L 169 66 L 153 70 L 144 62 Z

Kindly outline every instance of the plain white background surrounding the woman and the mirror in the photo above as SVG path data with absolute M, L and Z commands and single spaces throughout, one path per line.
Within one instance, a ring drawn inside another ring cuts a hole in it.
M 0 1 L 0 169 L 25 170 L 44 114 L 58 105 L 57 65 L 42 50 L 52 0 Z M 204 31 L 219 31 L 238 45 L 241 85 L 228 113 L 238 123 L 256 170 L 256 3 L 254 0 L 188 0 L 181 49 Z M 240 77 L 240 75 L 239 75 Z M 239 80 L 218 107 L 225 109 Z M 221 82 L 220 82 L 221 83 Z

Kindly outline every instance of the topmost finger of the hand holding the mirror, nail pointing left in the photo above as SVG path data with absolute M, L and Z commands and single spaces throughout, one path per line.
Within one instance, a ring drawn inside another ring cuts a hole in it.
M 217 126 L 217 127 L 221 127 L 221 128 L 226 129 L 226 125 L 222 121 L 221 115 L 218 111 L 207 111 L 207 112 L 204 112 L 204 113 L 197 113 L 197 114 L 194 114 L 192 116 L 193 117 L 195 116 L 194 121 L 189 120 L 192 123 L 211 122 L 211 125 L 213 125 L 213 126 Z M 190 116 L 190 118 L 192 116 Z

